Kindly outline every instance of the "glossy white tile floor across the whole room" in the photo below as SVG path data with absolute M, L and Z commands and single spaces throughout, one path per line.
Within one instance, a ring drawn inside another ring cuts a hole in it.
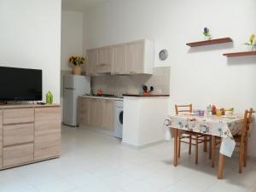
M 224 180 L 207 154 L 200 164 L 183 148 L 172 166 L 172 143 L 135 150 L 119 140 L 82 129 L 63 128 L 61 158 L 0 172 L 0 192 L 255 192 L 256 162 L 237 172 L 226 159 Z

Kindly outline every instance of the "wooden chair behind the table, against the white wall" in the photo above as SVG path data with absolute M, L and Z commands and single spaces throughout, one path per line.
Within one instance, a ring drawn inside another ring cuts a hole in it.
M 176 115 L 181 113 L 192 113 L 192 104 L 175 105 L 175 111 L 176 111 Z M 187 142 L 188 139 L 189 139 L 189 142 Z M 192 143 L 192 141 L 195 141 L 195 143 Z M 177 157 L 180 158 L 181 143 L 189 144 L 189 154 L 191 154 L 191 147 L 192 145 L 194 145 L 195 146 L 195 164 L 198 164 L 198 144 L 204 143 L 204 151 L 207 152 L 207 141 L 209 141 L 207 140 L 207 136 L 201 133 L 178 130 Z

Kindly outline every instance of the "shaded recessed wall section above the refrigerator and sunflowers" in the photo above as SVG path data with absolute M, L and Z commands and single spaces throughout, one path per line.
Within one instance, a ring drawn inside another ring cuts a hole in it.
M 71 71 L 68 58 L 84 55 L 84 14 L 62 11 L 61 15 L 61 70 Z

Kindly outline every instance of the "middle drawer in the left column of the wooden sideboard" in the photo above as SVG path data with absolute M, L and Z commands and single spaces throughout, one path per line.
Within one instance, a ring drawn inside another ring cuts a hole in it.
M 3 146 L 32 143 L 34 124 L 3 125 Z

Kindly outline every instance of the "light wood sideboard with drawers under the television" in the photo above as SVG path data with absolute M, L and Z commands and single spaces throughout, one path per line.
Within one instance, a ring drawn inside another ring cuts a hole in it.
M 60 105 L 0 106 L 0 170 L 60 156 Z

